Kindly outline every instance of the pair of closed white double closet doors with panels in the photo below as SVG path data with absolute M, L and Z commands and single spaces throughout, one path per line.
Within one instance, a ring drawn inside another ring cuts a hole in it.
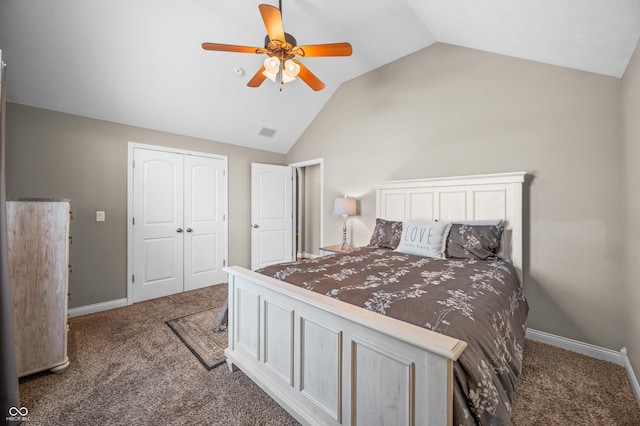
M 134 149 L 133 302 L 226 280 L 226 164 Z

